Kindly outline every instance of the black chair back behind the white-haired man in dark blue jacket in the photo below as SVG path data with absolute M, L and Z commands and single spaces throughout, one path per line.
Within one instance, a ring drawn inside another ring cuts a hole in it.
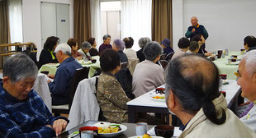
M 90 67 L 83 67 L 83 68 L 78 68 L 72 77 L 71 83 L 70 83 L 70 88 L 69 88 L 69 109 L 71 108 L 72 102 L 73 102 L 73 96 L 75 94 L 75 91 L 77 90 L 78 83 L 83 80 L 88 78 Z

